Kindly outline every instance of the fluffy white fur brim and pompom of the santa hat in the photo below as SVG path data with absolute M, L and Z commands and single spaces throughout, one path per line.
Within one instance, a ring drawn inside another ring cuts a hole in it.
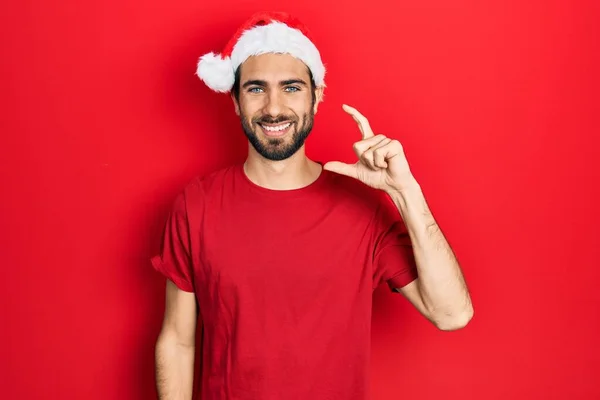
M 217 92 L 228 92 L 235 70 L 248 57 L 265 53 L 287 53 L 303 61 L 317 86 L 325 85 L 325 66 L 317 47 L 298 29 L 274 21 L 245 31 L 234 45 L 231 58 L 208 53 L 200 58 L 197 75 Z

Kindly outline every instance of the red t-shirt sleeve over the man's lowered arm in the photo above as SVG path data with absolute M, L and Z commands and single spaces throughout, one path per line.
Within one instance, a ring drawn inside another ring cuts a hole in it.
M 172 204 L 160 243 L 158 254 L 151 257 L 152 266 L 179 289 L 194 292 L 190 223 L 183 193 Z

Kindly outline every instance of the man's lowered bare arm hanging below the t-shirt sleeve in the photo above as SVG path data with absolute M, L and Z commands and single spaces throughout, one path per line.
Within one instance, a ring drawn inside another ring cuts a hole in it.
M 194 293 L 167 279 L 165 315 L 155 346 L 160 400 L 191 400 L 194 381 L 197 306 Z

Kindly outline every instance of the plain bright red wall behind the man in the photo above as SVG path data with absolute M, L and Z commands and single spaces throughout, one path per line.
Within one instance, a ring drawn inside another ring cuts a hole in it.
M 282 9 L 250 3 L 3 7 L 3 398 L 154 398 L 164 280 L 148 259 L 182 186 L 246 152 L 195 63 Z M 309 155 L 353 160 L 342 103 L 401 140 L 474 300 L 444 333 L 378 289 L 374 399 L 600 398 L 597 4 L 285 8 L 329 69 Z

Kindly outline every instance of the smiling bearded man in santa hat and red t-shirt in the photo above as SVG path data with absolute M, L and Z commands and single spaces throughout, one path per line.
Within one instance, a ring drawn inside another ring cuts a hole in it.
M 381 283 L 439 329 L 467 324 L 461 270 L 400 143 L 344 106 L 362 134 L 357 163 L 305 155 L 325 68 L 299 21 L 253 16 L 198 75 L 231 92 L 248 157 L 185 187 L 152 258 L 168 278 L 161 399 L 192 396 L 197 322 L 202 400 L 368 399 Z

